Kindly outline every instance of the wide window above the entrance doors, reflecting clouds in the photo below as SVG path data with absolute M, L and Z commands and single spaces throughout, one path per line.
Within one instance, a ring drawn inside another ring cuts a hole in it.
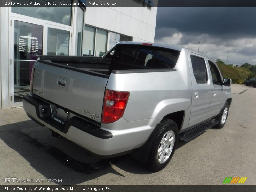
M 57 2 L 55 2 L 57 3 Z M 71 26 L 72 7 L 12 7 L 12 12 Z

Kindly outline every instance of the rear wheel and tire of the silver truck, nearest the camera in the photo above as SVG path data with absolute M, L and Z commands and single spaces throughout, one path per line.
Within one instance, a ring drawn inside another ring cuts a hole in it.
M 178 126 L 171 120 L 161 122 L 154 136 L 148 159 L 147 167 L 152 171 L 160 171 L 171 160 L 178 142 Z

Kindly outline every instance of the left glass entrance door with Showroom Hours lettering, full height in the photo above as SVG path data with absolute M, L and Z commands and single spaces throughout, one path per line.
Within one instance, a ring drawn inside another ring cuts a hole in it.
M 43 26 L 13 20 L 13 70 L 11 106 L 22 105 L 29 93 L 32 67 L 43 52 Z

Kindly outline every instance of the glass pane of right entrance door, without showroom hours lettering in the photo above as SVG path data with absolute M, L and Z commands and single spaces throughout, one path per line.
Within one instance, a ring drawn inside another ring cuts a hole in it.
M 48 28 L 47 55 L 68 55 L 69 31 Z

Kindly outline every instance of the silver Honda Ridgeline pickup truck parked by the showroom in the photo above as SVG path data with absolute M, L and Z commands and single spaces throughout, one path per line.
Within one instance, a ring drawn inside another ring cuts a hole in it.
M 103 57 L 42 56 L 34 64 L 28 116 L 94 154 L 131 153 L 163 169 L 178 138 L 225 125 L 231 80 L 198 52 L 120 42 Z

